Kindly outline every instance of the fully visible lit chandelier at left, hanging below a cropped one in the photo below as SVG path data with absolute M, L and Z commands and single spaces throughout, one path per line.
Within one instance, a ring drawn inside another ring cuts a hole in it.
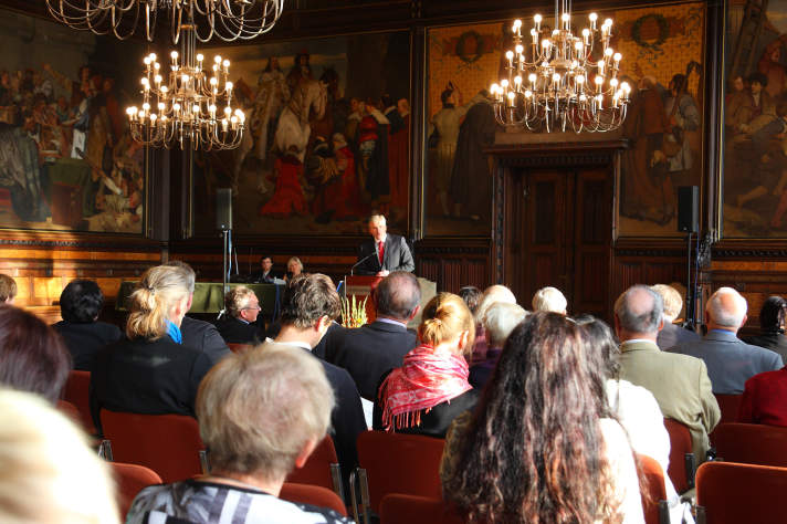
M 196 52 L 193 24 L 183 24 L 181 52 L 170 53 L 169 75 L 164 76 L 156 53 L 145 56 L 141 108 L 128 107 L 132 137 L 153 147 L 233 149 L 243 138 L 245 115 L 232 109 L 230 61 L 221 56 L 204 64 Z

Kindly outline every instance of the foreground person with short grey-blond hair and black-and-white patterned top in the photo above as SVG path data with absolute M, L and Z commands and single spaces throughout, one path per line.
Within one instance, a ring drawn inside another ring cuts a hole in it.
M 279 499 L 287 474 L 325 438 L 334 395 L 315 358 L 277 346 L 232 355 L 210 370 L 197 396 L 210 474 L 146 488 L 128 524 L 350 522 Z

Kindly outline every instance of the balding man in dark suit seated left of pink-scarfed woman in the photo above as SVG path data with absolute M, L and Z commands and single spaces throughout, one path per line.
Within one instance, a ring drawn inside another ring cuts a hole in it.
M 407 323 L 418 313 L 421 289 L 418 279 L 395 271 L 375 289 L 371 298 L 377 318 L 357 329 L 332 329 L 326 335 L 325 359 L 349 371 L 358 392 L 375 401 L 380 377 L 401 366 L 402 358 L 418 345 Z

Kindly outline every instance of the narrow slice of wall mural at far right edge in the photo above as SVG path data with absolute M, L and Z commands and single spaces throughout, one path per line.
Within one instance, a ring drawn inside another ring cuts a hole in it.
M 787 1 L 752 18 L 727 11 L 724 96 L 725 238 L 787 237 Z

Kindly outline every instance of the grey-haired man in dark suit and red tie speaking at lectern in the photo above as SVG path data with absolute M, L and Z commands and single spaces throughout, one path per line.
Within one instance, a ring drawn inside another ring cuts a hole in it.
M 356 273 L 388 276 L 391 271 L 412 272 L 416 269 L 405 238 L 388 233 L 386 218 L 382 214 L 369 217 L 369 234 L 371 239 L 360 244 Z

